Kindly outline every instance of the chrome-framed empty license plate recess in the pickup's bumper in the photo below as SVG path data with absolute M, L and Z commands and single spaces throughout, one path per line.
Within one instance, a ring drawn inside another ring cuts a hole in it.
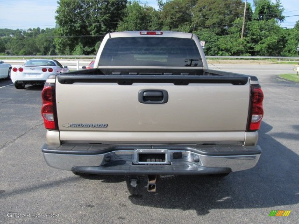
M 167 149 L 137 149 L 133 164 L 170 164 Z

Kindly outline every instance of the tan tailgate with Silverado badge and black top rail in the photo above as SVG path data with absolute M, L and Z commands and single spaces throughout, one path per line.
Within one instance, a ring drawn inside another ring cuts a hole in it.
M 61 136 L 63 131 L 241 132 L 244 138 L 249 90 L 244 76 L 59 75 L 58 125 Z M 167 95 L 167 101 L 156 103 L 153 95 L 163 100 Z

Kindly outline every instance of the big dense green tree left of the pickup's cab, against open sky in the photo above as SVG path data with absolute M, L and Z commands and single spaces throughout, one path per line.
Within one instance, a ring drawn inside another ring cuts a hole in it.
M 54 40 L 59 54 L 72 53 L 81 43 L 84 54 L 94 54 L 103 35 L 116 30 L 126 0 L 60 0 L 56 10 Z

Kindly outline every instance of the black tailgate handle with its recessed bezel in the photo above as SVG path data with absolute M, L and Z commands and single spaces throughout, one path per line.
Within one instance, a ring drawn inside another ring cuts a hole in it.
M 168 101 L 166 90 L 140 90 L 138 101 L 145 104 L 163 104 Z

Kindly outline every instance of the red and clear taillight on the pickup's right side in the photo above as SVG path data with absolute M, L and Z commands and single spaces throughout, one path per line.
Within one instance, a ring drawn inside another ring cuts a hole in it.
M 264 94 L 260 85 L 251 85 L 251 108 L 249 116 L 248 131 L 257 131 L 264 115 L 263 110 Z

